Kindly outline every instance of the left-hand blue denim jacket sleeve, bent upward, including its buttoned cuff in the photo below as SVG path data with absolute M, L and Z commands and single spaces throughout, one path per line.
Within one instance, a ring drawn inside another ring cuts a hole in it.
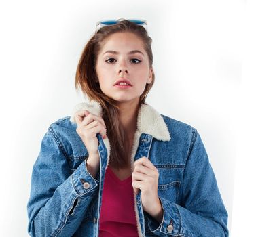
M 98 191 L 99 181 L 85 162 L 71 174 L 62 149 L 51 125 L 33 165 L 27 204 L 31 236 L 72 236 Z

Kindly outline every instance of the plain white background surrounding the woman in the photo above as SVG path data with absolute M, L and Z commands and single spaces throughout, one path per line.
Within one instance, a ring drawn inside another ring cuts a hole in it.
M 84 102 L 75 91 L 81 51 L 96 21 L 115 18 L 147 20 L 156 74 L 147 102 L 198 129 L 230 236 L 251 234 L 253 7 L 242 0 L 1 2 L 0 236 L 28 236 L 26 203 L 41 139 L 50 123 Z

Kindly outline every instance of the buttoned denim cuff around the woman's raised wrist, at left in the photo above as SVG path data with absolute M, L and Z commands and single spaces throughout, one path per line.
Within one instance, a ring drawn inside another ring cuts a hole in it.
M 87 159 L 86 159 L 87 160 Z M 72 174 L 73 188 L 79 195 L 84 195 L 96 190 L 100 181 L 94 179 L 87 170 L 86 160 Z

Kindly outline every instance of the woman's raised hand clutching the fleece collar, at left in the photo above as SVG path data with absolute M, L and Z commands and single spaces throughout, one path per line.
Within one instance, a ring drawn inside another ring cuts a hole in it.
M 98 156 L 98 139 L 96 134 L 100 133 L 103 139 L 107 137 L 103 118 L 88 112 L 88 110 L 79 110 L 75 113 L 75 122 L 77 123 L 76 131 L 84 142 L 89 157 Z

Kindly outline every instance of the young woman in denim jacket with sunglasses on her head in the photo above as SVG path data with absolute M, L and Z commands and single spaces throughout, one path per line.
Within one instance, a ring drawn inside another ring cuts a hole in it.
M 198 131 L 145 102 L 146 22 L 98 22 L 76 73 L 89 102 L 52 123 L 33 167 L 31 236 L 228 236 Z

